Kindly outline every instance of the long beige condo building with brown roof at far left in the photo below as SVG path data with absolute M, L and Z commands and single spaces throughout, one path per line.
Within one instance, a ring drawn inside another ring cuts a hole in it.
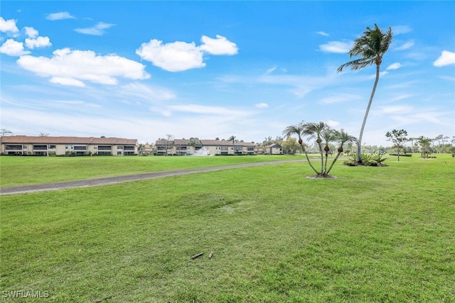
M 1 155 L 137 155 L 137 139 L 4 136 Z

